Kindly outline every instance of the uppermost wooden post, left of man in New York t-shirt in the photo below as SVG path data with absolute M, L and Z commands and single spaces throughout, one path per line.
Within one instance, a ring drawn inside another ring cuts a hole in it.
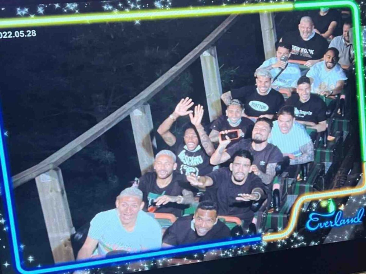
M 264 46 L 264 55 L 266 60 L 271 57 L 276 57 L 276 46 L 277 41 L 275 19 L 272 12 L 265 12 L 259 14 L 261 19 L 262 38 Z

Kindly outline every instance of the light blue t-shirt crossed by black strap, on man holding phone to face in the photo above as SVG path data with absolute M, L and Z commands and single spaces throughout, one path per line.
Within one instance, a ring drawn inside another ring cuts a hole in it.
M 277 62 L 276 57 L 269 58 L 268 60 L 264 61 L 259 68 L 265 68 L 266 66 L 273 65 Z M 281 71 L 280 68 L 273 68 L 269 72 L 272 75 L 272 79 L 276 77 Z M 291 64 L 288 63 L 287 68 L 277 77 L 276 81 L 272 83 L 272 87 L 279 86 L 279 87 L 296 87 L 297 81 L 301 77 L 301 72 L 298 64 Z

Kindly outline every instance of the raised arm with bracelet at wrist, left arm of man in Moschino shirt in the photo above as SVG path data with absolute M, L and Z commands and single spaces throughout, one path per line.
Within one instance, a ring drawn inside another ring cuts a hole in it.
M 179 116 L 184 116 L 192 113 L 192 110 L 188 110 L 191 106 L 193 106 L 192 99 L 186 97 L 185 99 L 180 100 L 180 102 L 175 107 L 174 112 L 169 115 L 167 119 L 164 120 L 163 123 L 159 126 L 157 132 L 163 137 L 163 140 L 167 143 L 167 145 L 172 146 L 176 142 L 176 138 L 169 130 L 172 127 L 173 123 Z

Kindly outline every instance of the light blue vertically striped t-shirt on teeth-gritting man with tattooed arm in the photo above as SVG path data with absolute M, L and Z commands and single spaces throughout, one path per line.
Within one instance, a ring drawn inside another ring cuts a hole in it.
M 301 156 L 300 147 L 310 141 L 311 138 L 307 134 L 305 127 L 296 121 L 287 134 L 283 134 L 278 121 L 274 121 L 271 137 L 268 138 L 268 142 L 276 145 L 283 154 L 293 154 L 295 157 Z

